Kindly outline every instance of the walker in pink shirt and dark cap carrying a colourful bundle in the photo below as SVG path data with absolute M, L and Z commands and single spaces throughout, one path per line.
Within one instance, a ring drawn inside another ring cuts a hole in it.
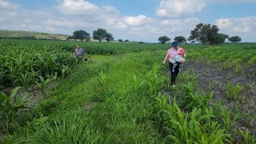
M 178 42 L 173 42 L 162 64 L 166 64 L 167 58 L 169 58 L 171 85 L 175 87 L 175 80 L 178 76 L 178 72 L 182 68 L 182 62 L 186 62 L 186 52 L 178 46 Z

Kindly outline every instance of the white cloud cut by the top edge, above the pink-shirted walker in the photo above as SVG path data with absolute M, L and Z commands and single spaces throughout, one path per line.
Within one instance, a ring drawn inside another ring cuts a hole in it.
M 199 13 L 206 7 L 207 0 L 162 0 L 156 14 L 173 18 L 181 14 Z

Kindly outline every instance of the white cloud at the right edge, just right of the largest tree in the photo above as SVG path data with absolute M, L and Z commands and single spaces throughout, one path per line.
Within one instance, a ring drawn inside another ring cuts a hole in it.
M 219 18 L 215 21 L 215 25 L 223 34 L 238 35 L 243 41 L 255 42 L 256 17 Z

